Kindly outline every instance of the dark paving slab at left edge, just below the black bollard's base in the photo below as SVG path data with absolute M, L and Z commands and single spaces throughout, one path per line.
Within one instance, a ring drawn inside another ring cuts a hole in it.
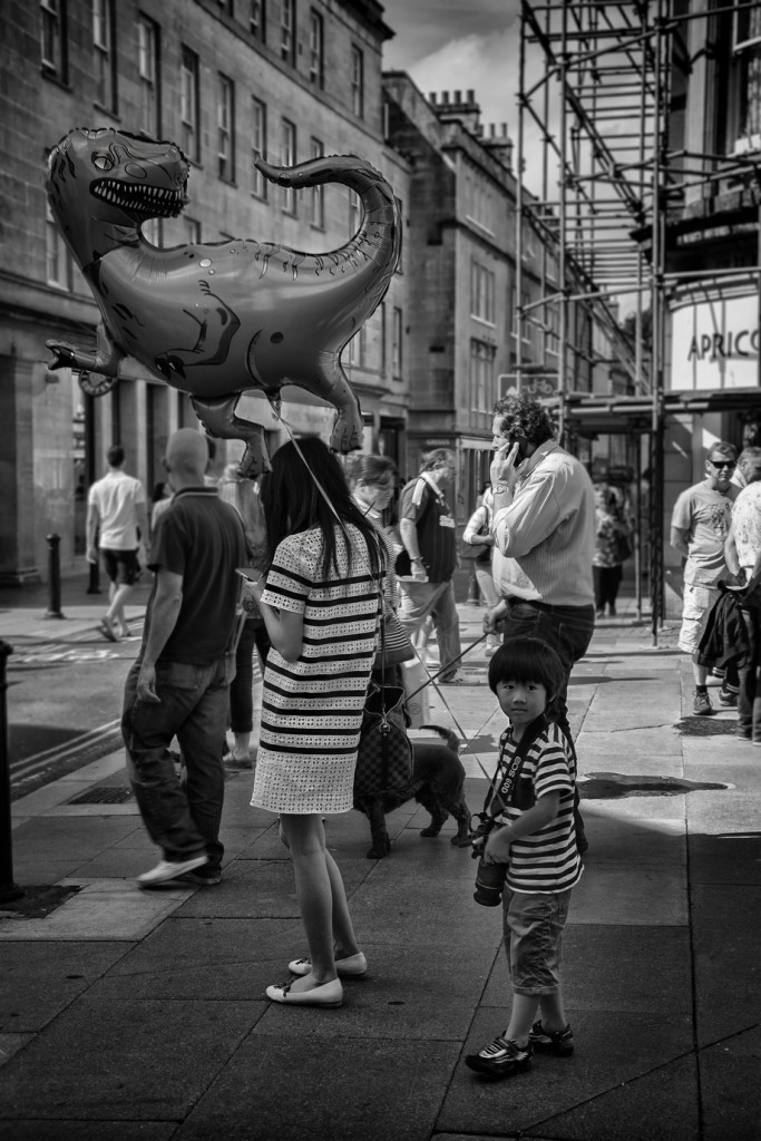
M 22 921 L 19 921 L 22 922 Z M 0 1030 L 35 1031 L 47 1026 L 118 963 L 129 942 L 8 942 L 0 952 Z

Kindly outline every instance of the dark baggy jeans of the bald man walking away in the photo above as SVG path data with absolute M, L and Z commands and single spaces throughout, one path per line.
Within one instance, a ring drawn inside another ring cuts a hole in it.
M 135 662 L 124 686 L 122 737 L 127 771 L 146 828 L 172 861 L 209 856 L 218 868 L 224 852 L 219 824 L 225 798 L 221 742 L 225 737 L 233 655 L 213 665 L 156 664 L 160 704 L 139 701 Z M 184 782 L 169 753 L 173 737 L 183 751 Z

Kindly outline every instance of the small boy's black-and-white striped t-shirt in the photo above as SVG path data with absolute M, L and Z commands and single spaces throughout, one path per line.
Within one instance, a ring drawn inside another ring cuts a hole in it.
M 500 742 L 500 771 L 510 768 L 517 742 L 507 729 Z M 557 725 L 549 725 L 528 750 L 501 824 L 518 820 L 541 796 L 560 793 L 558 815 L 550 824 L 510 844 L 507 884 L 512 891 L 549 895 L 578 882 L 582 863 L 574 827 L 575 762 Z M 523 806 L 523 807 L 519 807 Z

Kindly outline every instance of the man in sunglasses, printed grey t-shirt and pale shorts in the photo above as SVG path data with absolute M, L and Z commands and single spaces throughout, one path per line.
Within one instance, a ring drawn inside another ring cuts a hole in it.
M 719 597 L 719 580 L 734 581 L 724 558 L 724 541 L 732 502 L 739 494 L 731 483 L 736 461 L 737 452 L 731 444 L 713 444 L 705 461 L 705 479 L 681 493 L 671 517 L 671 545 L 686 559 L 679 648 L 693 658 L 693 712 L 697 717 L 713 713 L 706 686 L 709 667 L 697 661 L 698 645 L 709 612 Z M 732 704 L 723 687 L 719 701 L 722 705 Z

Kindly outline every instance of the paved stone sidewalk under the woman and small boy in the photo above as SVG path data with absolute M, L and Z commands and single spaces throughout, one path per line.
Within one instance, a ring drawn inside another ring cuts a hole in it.
M 460 609 L 468 645 L 483 612 Z M 286 852 L 249 807 L 251 774 L 227 784 L 221 884 L 140 892 L 133 877 L 156 853 L 114 753 L 13 806 L 16 881 L 79 890 L 47 917 L 0 914 L 7 1134 L 761 1138 L 761 751 L 731 736 L 734 712 L 690 715 L 674 629 L 654 650 L 632 601 L 622 610 L 570 686 L 590 841 L 565 940 L 570 1059 L 537 1057 L 495 1085 L 463 1066 L 504 1029 L 509 987 L 500 915 L 473 903 L 475 861 L 448 843 L 452 822 L 423 840 L 427 814 L 405 806 L 374 861 L 363 817 L 330 818 L 370 971 L 339 1010 L 286 1010 L 264 988 L 305 947 Z M 469 683 L 444 689 L 468 737 L 472 810 L 503 727 L 485 664 L 479 647 Z

